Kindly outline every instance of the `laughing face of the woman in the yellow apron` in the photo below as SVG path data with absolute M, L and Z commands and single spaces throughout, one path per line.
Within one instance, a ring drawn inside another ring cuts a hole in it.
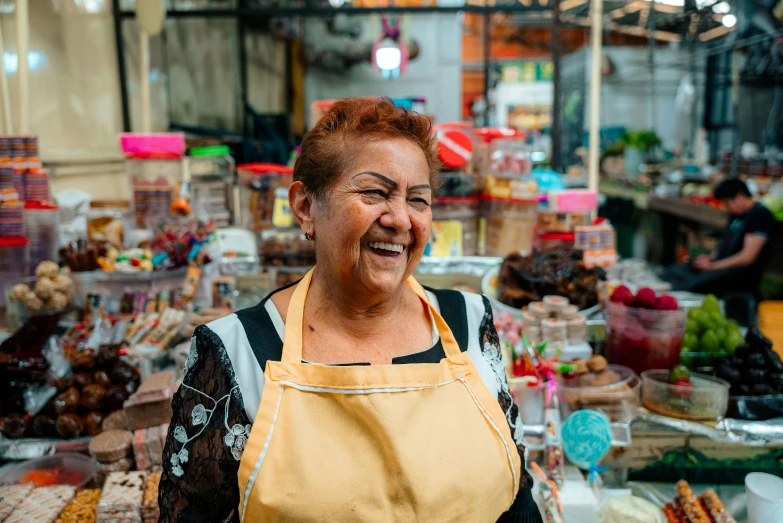
M 399 288 L 430 237 L 432 188 L 421 149 L 401 138 L 370 142 L 323 199 L 312 206 L 318 265 L 371 292 Z

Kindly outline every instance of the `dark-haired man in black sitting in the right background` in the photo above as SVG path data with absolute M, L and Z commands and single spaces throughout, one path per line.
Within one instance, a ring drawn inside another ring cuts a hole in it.
M 766 207 L 753 201 L 742 180 L 723 180 L 713 195 L 723 202 L 730 218 L 717 252 L 670 267 L 662 278 L 672 284 L 673 290 L 718 296 L 729 292 L 756 295 L 772 258 L 780 224 Z

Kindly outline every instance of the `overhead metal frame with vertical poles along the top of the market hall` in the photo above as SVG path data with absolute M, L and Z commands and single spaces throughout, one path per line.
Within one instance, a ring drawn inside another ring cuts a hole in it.
M 239 8 L 227 9 L 194 9 L 194 10 L 169 10 L 166 13 L 167 18 L 233 18 L 237 22 L 237 33 L 239 35 L 239 77 L 240 77 L 240 100 L 242 102 L 243 129 L 247 134 L 247 118 L 245 117 L 245 108 L 247 104 L 248 79 L 247 79 L 247 50 L 244 35 L 247 30 L 247 23 L 253 19 L 271 19 L 278 17 L 331 17 L 338 14 L 361 16 L 380 13 L 477 13 L 483 15 L 483 61 L 484 61 L 484 95 L 487 94 L 490 85 L 490 15 L 494 13 L 509 13 L 515 15 L 533 15 L 524 17 L 525 27 L 550 28 L 552 30 L 552 60 L 555 66 L 554 87 L 555 104 L 553 110 L 559 111 L 561 100 L 559 100 L 559 89 L 561 87 L 559 74 L 559 58 L 561 54 L 561 45 L 559 42 L 560 27 L 592 27 L 592 45 L 595 82 L 594 89 L 600 88 L 600 46 L 601 34 L 605 30 L 615 31 L 621 34 L 628 34 L 648 38 L 650 41 L 650 66 L 654 67 L 654 50 L 657 41 L 679 42 L 696 40 L 706 42 L 725 35 L 730 29 L 721 24 L 722 15 L 714 15 L 710 9 L 711 5 L 704 6 L 701 9 L 686 9 L 685 7 L 660 4 L 655 0 L 500 0 L 492 5 L 478 5 L 475 2 L 484 2 L 485 0 L 468 0 L 469 3 L 462 6 L 436 6 L 428 5 L 421 7 L 412 6 L 390 6 L 390 7 L 330 7 L 324 0 L 301 0 L 294 7 L 256 7 L 249 6 L 249 0 L 238 0 Z M 488 0 L 491 1 L 491 0 Z M 716 0 L 717 1 L 717 0 Z M 393 0 L 392 0 L 393 2 Z M 687 0 L 686 0 L 687 2 Z M 113 0 L 113 14 L 117 46 L 117 63 L 119 68 L 120 91 L 122 99 L 123 127 L 126 131 L 131 128 L 129 96 L 127 87 L 127 71 L 125 61 L 125 45 L 123 40 L 122 26 L 123 22 L 135 17 L 134 11 L 124 11 L 121 9 L 120 0 Z M 288 50 L 290 52 L 290 50 Z M 598 59 L 597 59 L 597 58 Z M 596 96 L 591 97 L 591 105 L 599 103 Z M 289 104 L 290 104 L 290 96 Z M 486 111 L 489 110 L 487 104 Z M 289 107 L 290 109 L 290 107 Z M 485 114 L 486 118 L 487 114 Z M 597 118 L 597 113 L 591 119 Z M 485 120 L 486 121 L 486 120 Z M 597 122 L 591 124 L 591 131 Z M 561 123 L 557 114 L 553 118 L 553 135 L 559 133 Z M 595 136 L 593 136 L 595 134 Z M 597 180 L 597 150 L 593 142 L 597 142 L 597 127 L 595 132 L 591 132 L 591 154 L 590 171 L 591 180 Z M 558 140 L 554 140 L 558 142 Z M 553 145 L 553 153 L 559 152 L 560 144 Z M 561 155 L 553 154 L 555 167 Z M 595 165 L 594 165 L 595 164 Z M 592 171 L 596 171 L 593 173 Z M 596 181 L 597 185 L 597 181 Z

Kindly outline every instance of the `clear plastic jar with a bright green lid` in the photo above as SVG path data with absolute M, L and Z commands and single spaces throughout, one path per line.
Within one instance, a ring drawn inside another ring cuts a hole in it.
M 231 225 L 234 212 L 232 186 L 234 158 L 227 145 L 196 147 L 187 158 L 190 197 L 194 206 L 206 212 L 215 227 Z

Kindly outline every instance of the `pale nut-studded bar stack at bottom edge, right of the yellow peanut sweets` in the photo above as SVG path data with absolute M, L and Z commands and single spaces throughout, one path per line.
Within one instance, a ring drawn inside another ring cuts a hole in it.
M 141 523 L 144 472 L 112 472 L 106 478 L 96 523 Z

